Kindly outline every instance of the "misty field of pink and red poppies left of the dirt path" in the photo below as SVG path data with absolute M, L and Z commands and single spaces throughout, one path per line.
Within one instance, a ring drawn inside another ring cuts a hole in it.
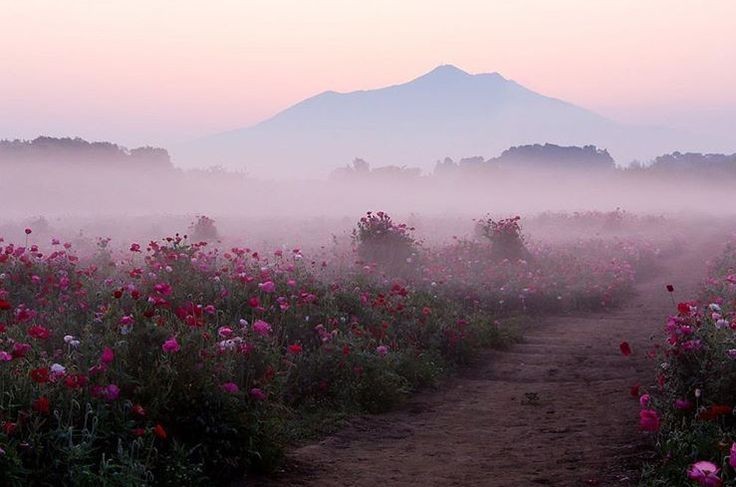
M 506 345 L 519 320 L 617 306 L 656 265 L 641 240 L 545 246 L 511 221 L 424 246 L 368 214 L 350 245 L 329 250 L 175 235 L 78 251 L 36 242 L 31 228 L 0 239 L 3 480 L 197 485 L 268 472 L 287 445 L 395 407 Z M 673 326 L 722 319 L 688 310 Z M 672 360 L 687 357 L 675 346 Z M 719 367 L 731 367 L 736 345 L 719 346 Z M 693 384 L 678 387 L 667 400 L 690 397 Z M 709 405 L 734 403 L 729 384 L 699 387 Z M 704 427 L 722 428 L 717 416 Z

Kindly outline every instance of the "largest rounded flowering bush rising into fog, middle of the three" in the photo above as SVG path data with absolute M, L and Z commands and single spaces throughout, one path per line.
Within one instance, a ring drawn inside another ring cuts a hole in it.
M 411 236 L 414 228 L 396 224 L 383 212 L 368 212 L 353 230 L 359 257 L 377 263 L 386 269 L 404 270 L 411 267 L 416 254 L 416 241 Z

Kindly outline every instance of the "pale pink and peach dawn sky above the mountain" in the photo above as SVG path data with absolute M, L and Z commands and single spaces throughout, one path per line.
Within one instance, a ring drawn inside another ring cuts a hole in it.
M 731 134 L 736 1 L 0 0 L 0 138 L 167 145 L 440 64 Z

